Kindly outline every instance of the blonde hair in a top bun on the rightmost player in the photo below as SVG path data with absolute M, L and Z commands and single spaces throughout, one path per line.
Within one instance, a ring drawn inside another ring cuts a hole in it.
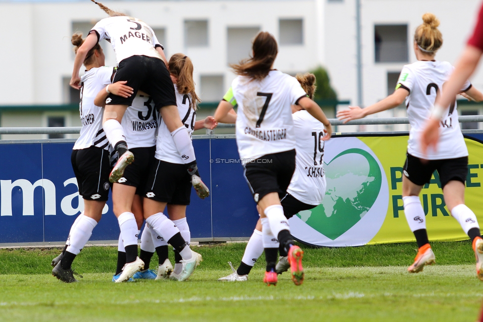
M 443 36 L 437 26 L 439 20 L 433 13 L 423 15 L 423 24 L 414 33 L 414 41 L 423 53 L 434 54 L 443 44 Z

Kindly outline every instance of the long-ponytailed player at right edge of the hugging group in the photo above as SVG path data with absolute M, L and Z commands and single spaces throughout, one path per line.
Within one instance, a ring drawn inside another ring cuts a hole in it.
M 213 117 L 196 121 L 196 104 L 199 98 L 194 92 L 191 59 L 184 54 L 174 54 L 169 60 L 168 69 L 175 84 L 177 108 L 180 115 L 183 115 L 183 123 L 190 136 L 193 130 L 203 126 L 214 128 L 216 122 Z M 173 136 L 164 119 L 161 119 L 155 159 L 149 171 L 144 195 L 146 222 L 158 237 L 164 239 L 163 247 L 156 247 L 157 251 L 164 250 L 164 256 L 158 252 L 157 279 L 186 280 L 202 260 L 201 255 L 190 249 L 191 233 L 186 220 L 186 206 L 190 204 L 192 179 L 186 172 L 185 158 L 174 147 Z M 166 207 L 169 218 L 163 214 Z M 174 270 L 168 260 L 168 243 L 175 250 Z M 189 255 L 192 255 L 192 260 L 186 260 Z

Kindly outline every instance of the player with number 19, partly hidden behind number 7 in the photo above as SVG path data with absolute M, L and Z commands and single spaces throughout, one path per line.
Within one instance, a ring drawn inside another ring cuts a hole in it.
M 315 92 L 314 74 L 297 74 L 298 80 L 310 99 Z M 224 98 L 230 101 L 230 97 Z M 284 215 L 290 219 L 302 210 L 309 210 L 322 203 L 326 191 L 326 178 L 323 168 L 325 141 L 321 140 L 327 130 L 323 124 L 312 117 L 306 110 L 300 110 L 299 106 L 292 105 L 293 124 L 297 137 L 295 139 L 295 172 L 290 180 L 287 195 L 281 200 Z M 328 131 L 332 131 L 328 127 Z M 274 247 L 280 247 L 278 241 L 271 241 Z M 290 268 L 287 254 L 283 248 L 279 248 L 280 259 L 276 271 L 281 274 Z M 256 260 L 263 253 L 262 225 L 258 220 L 255 230 L 248 241 L 243 258 L 238 269 L 232 267 L 233 273 L 219 278 L 220 281 L 246 281 L 248 274 Z

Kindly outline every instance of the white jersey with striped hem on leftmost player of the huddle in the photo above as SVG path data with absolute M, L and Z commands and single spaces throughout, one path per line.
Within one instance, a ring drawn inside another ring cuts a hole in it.
M 74 150 L 86 149 L 90 146 L 109 149 L 109 142 L 102 129 L 103 107 L 94 105 L 97 93 L 111 84 L 114 67 L 102 66 L 91 68 L 81 77 L 81 134 L 74 144 Z

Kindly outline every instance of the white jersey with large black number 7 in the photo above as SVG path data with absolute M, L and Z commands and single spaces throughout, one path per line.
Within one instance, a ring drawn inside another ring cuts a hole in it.
M 290 105 L 304 96 L 300 83 L 278 70 L 261 81 L 235 78 L 225 100 L 238 104 L 236 134 L 243 163 L 295 148 Z

